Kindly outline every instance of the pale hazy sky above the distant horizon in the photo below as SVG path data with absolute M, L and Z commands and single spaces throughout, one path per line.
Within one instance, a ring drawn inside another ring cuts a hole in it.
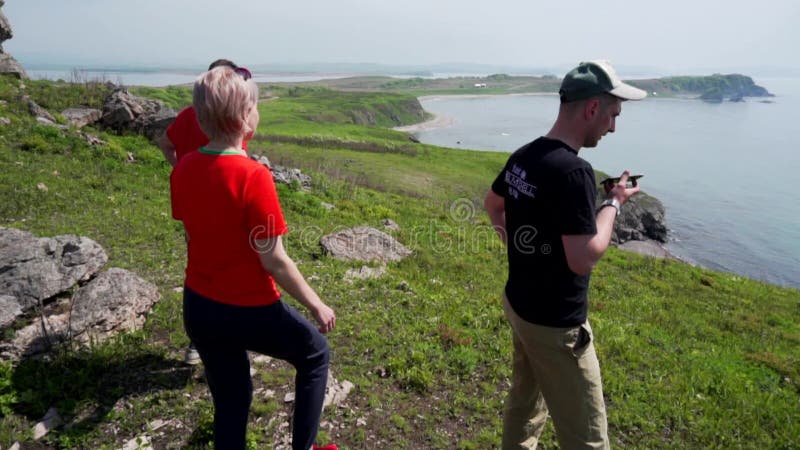
M 800 1 L 6 0 L 21 62 L 800 69 Z

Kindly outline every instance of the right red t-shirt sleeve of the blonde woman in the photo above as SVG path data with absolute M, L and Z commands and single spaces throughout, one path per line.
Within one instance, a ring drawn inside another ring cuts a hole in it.
M 272 173 L 264 166 L 254 170 L 244 193 L 247 226 L 255 239 L 280 236 L 288 231 Z

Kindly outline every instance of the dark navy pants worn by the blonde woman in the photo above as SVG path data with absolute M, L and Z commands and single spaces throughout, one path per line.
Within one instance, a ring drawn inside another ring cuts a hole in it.
M 292 448 L 311 448 L 330 356 L 327 340 L 308 320 L 282 301 L 269 306 L 227 305 L 185 287 L 183 325 L 203 360 L 214 399 L 215 448 L 245 448 L 253 399 L 248 350 L 285 360 L 297 370 Z

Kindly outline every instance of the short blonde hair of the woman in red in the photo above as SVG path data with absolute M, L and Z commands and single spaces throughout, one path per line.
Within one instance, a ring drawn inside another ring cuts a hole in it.
M 192 104 L 209 139 L 232 139 L 255 131 L 247 124 L 258 103 L 258 85 L 227 66 L 215 67 L 194 82 Z

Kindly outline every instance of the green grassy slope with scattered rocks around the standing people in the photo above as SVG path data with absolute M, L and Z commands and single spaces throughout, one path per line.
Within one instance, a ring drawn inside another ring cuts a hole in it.
M 63 99 L 96 101 L 78 92 L 84 87 L 26 85 L 52 113 L 68 106 Z M 0 363 L 0 445 L 114 449 L 149 432 L 156 448 L 210 448 L 202 369 L 181 363 L 187 339 L 173 288 L 182 283 L 185 244 L 169 216 L 168 164 L 139 136 L 90 130 L 108 142 L 92 148 L 74 130 L 38 125 L 19 103 L 22 92 L 0 77 L 0 117 L 11 121 L 0 125 L 0 226 L 91 237 L 108 251 L 107 267 L 137 272 L 163 298 L 141 331 L 52 360 Z M 148 93 L 176 107 L 189 98 L 182 88 Z M 309 191 L 278 186 L 286 243 L 337 312 L 332 371 L 356 385 L 342 407 L 323 413 L 319 441 L 343 449 L 496 448 L 510 375 L 500 305 L 506 267 L 479 204 L 506 155 L 416 144 L 359 125 L 353 114 L 391 111 L 406 123 L 418 119 L 398 106 L 408 97 L 266 88 L 264 97 L 278 98 L 261 103 L 250 148 L 314 177 Z M 322 255 L 320 236 L 380 228 L 385 218 L 401 226 L 392 234 L 414 254 L 383 278 L 345 281 L 361 264 Z M 612 445 L 800 446 L 798 291 L 616 249 L 592 281 Z M 254 367 L 248 442 L 274 448 L 287 435 L 280 424 L 290 413 L 283 395 L 292 371 L 274 361 Z M 51 406 L 66 425 L 33 443 L 30 429 Z M 151 431 L 157 420 L 164 425 Z M 541 448 L 557 448 L 552 426 Z

